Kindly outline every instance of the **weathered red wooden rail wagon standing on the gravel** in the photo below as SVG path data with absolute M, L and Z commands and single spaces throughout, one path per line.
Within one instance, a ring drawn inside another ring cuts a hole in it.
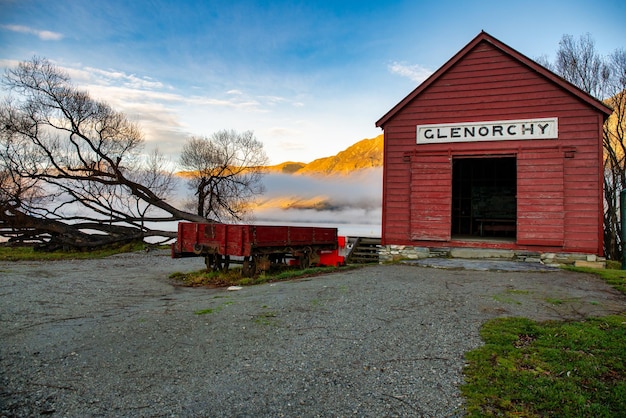
M 290 260 L 319 264 L 322 252 L 336 250 L 337 228 L 180 222 L 172 257 L 205 257 L 214 270 L 240 262 L 243 275 L 253 276 Z

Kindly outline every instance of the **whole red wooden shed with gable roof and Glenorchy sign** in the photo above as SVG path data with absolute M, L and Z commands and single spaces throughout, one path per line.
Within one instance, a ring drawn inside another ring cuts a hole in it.
M 602 255 L 610 114 L 481 32 L 376 122 L 382 244 Z

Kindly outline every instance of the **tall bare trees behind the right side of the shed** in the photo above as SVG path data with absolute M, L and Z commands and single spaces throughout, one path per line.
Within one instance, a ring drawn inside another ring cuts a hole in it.
M 589 34 L 581 36 L 578 41 L 564 35 L 556 62 L 548 67 L 613 108 L 613 114 L 603 127 L 604 251 L 611 259 L 621 259 L 619 198 L 626 187 L 626 51 L 618 49 L 604 58 L 597 53 Z

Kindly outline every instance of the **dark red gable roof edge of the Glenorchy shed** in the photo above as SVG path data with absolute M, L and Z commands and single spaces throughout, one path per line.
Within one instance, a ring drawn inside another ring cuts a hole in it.
M 528 58 L 527 56 L 519 53 L 518 51 L 516 51 L 515 49 L 511 48 L 510 46 L 500 42 L 499 40 L 497 40 L 493 36 L 489 35 L 487 32 L 481 31 L 472 41 L 470 41 L 470 43 L 468 43 L 463 49 L 461 49 L 459 52 L 457 52 L 456 55 L 454 55 L 452 58 L 450 58 L 450 60 L 448 60 L 448 62 L 446 62 L 437 71 L 435 71 L 430 77 L 428 77 L 426 79 L 426 81 L 424 81 L 422 84 L 417 86 L 417 88 L 415 90 L 413 90 L 404 99 L 402 99 L 402 101 L 400 101 L 400 103 L 395 105 L 389 112 L 387 112 L 382 118 L 380 118 L 376 122 L 376 126 L 384 128 L 383 125 L 385 123 L 387 123 L 387 121 L 389 121 L 398 112 L 400 112 L 402 110 L 402 108 L 404 108 L 404 106 L 406 106 L 413 99 L 415 99 L 417 96 L 419 96 L 422 91 L 424 91 L 430 85 L 435 83 L 437 81 L 437 79 L 439 77 L 441 77 L 442 74 L 444 74 L 452 66 L 454 66 L 457 62 L 459 62 L 461 59 L 463 59 L 465 57 L 465 55 L 467 55 L 472 49 L 474 49 L 474 47 L 476 47 L 481 42 L 488 42 L 489 44 L 491 44 L 492 46 L 494 46 L 498 50 L 500 50 L 503 53 L 511 56 L 512 58 L 514 58 L 518 62 L 526 65 L 527 67 L 529 67 L 533 71 L 539 73 L 541 76 L 543 76 L 543 77 L 549 79 L 550 81 L 554 82 L 559 87 L 561 87 L 563 90 L 566 90 L 570 94 L 578 97 L 580 100 L 582 100 L 583 102 L 589 104 L 591 107 L 597 109 L 599 112 L 604 113 L 605 114 L 605 118 L 608 117 L 609 115 L 611 115 L 611 113 L 613 113 L 611 108 L 606 106 L 600 100 L 597 100 L 596 98 L 594 98 L 590 94 L 588 94 L 585 91 L 579 89 L 578 87 L 576 87 L 572 83 L 568 82 L 564 78 L 559 77 L 558 75 L 556 75 L 552 71 L 548 70 L 544 66 L 537 64 L 535 61 L 533 61 L 530 58 Z

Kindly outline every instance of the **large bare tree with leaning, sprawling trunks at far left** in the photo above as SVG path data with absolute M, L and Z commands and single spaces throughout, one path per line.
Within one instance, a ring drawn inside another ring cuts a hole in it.
M 93 248 L 174 235 L 148 223 L 199 220 L 166 201 L 172 174 L 156 153 L 144 164 L 139 128 L 49 61 L 19 64 L 3 84 L 0 235 Z

